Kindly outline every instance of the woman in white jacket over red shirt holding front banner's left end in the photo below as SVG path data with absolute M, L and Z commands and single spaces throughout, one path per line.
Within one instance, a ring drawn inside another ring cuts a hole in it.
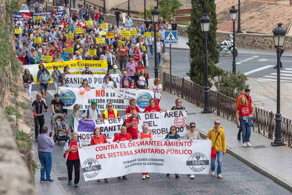
M 63 148 L 65 162 L 67 165 L 68 170 L 68 185 L 72 184 L 72 172 L 73 172 L 73 166 L 74 166 L 74 184 L 75 187 L 78 187 L 79 178 L 80 178 L 80 160 L 79 160 L 79 153 L 78 149 L 82 147 L 79 140 L 77 140 L 78 133 L 73 132 L 71 134 L 72 139 L 68 139 L 65 143 L 65 146 Z

